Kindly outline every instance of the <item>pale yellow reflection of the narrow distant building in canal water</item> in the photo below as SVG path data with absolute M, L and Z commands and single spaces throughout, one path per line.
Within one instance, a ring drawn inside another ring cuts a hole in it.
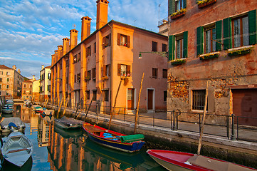
M 48 146 L 49 126 L 47 120 L 38 117 L 38 147 Z

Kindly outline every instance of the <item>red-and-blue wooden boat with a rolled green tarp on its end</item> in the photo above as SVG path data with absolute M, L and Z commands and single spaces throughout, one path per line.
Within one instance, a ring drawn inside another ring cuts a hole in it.
M 135 152 L 141 149 L 145 144 L 142 141 L 144 135 L 125 135 L 112 130 L 101 128 L 97 125 L 83 124 L 83 129 L 88 133 L 88 137 L 106 147 L 124 152 Z

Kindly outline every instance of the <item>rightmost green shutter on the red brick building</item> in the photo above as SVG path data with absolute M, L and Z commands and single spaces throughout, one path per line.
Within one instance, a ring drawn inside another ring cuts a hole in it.
M 248 12 L 249 44 L 256 44 L 256 9 Z

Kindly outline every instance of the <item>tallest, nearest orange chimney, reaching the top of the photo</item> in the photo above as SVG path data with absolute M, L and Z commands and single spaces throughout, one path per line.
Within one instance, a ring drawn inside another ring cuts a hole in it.
M 100 29 L 108 21 L 108 4 L 109 1 L 107 0 L 98 0 L 96 1 L 97 4 L 97 15 L 96 15 L 96 29 Z

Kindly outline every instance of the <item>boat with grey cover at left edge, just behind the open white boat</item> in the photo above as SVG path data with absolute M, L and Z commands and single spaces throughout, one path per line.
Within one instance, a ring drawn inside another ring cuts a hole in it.
M 26 128 L 25 123 L 20 118 L 4 118 L 0 123 L 1 133 L 10 133 L 15 130 L 24 131 Z

